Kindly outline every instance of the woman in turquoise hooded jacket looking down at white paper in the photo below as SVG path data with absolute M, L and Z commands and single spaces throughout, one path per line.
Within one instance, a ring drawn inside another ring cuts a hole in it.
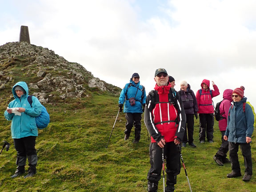
M 32 97 L 32 107 L 28 102 L 28 85 L 25 82 L 18 82 L 12 88 L 14 100 L 12 100 L 4 117 L 6 120 L 12 120 L 11 132 L 14 147 L 17 151 L 16 172 L 12 178 L 25 173 L 25 165 L 28 156 L 28 174 L 30 177 L 36 174 L 37 153 L 36 136 L 38 131 L 36 127 L 36 116 L 42 111 L 42 105 L 36 97 Z

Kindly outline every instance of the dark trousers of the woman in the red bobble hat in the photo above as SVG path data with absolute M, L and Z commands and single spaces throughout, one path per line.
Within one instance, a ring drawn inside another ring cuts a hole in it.
M 228 149 L 229 149 L 229 158 L 231 161 L 232 171 L 234 172 L 241 172 L 240 164 L 238 160 L 238 148 L 242 151 L 242 155 L 244 156 L 244 167 L 245 167 L 245 174 L 252 175 L 252 152 L 251 152 L 251 145 L 250 143 L 233 143 L 228 142 Z

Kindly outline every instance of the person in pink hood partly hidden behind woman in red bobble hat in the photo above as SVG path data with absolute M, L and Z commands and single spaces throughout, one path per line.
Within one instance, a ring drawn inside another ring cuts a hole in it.
M 232 100 L 232 89 L 226 89 L 223 92 L 223 100 L 220 103 L 220 115 L 223 116 L 222 120 L 219 120 L 219 128 L 221 132 L 221 145 L 216 152 L 216 155 L 213 157 L 213 159 L 216 161 L 217 164 L 220 166 L 223 166 L 223 163 L 230 163 L 230 160 L 227 158 L 227 152 L 228 152 L 228 141 L 224 140 L 224 135 L 227 128 L 227 122 L 228 122 L 228 110 L 231 106 Z

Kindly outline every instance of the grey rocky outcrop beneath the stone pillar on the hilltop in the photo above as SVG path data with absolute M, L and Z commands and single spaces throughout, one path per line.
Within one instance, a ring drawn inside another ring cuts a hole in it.
M 17 68 L 20 68 L 19 71 Z M 0 89 L 13 80 L 19 81 L 17 73 L 31 77 L 32 82 L 27 82 L 29 89 L 42 103 L 47 103 L 49 96 L 59 96 L 61 99 L 87 96 L 87 85 L 89 88 L 119 93 L 119 88 L 95 78 L 82 65 L 68 62 L 48 48 L 26 42 L 0 46 Z

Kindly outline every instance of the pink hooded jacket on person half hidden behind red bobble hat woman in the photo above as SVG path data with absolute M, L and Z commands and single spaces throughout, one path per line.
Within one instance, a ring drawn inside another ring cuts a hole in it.
M 226 89 L 223 92 L 223 101 L 220 104 L 220 115 L 224 117 L 224 119 L 219 120 L 219 128 L 220 131 L 226 131 L 227 122 L 228 122 L 228 110 L 232 105 L 232 89 Z

